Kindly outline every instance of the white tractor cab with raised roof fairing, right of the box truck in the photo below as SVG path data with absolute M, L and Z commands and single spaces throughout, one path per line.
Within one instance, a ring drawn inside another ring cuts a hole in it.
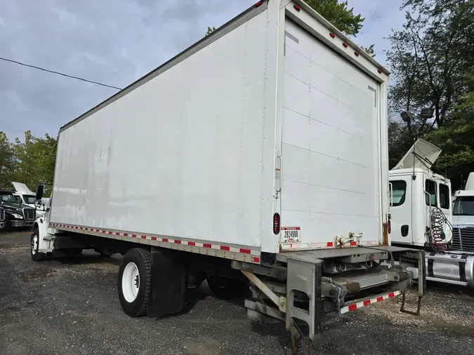
M 392 243 L 430 248 L 434 211 L 443 220 L 442 241 L 451 241 L 451 182 L 430 169 L 440 153 L 441 149 L 419 139 L 390 170 Z

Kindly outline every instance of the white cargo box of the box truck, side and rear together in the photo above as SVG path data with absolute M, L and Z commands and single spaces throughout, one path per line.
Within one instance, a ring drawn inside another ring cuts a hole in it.
M 388 72 L 258 4 L 61 128 L 51 227 L 251 262 L 382 243 Z

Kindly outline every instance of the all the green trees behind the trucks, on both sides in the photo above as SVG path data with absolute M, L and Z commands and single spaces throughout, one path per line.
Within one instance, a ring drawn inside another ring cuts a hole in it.
M 364 25 L 347 1 L 308 0 L 318 13 L 348 36 L 357 37 Z M 389 165 L 395 164 L 418 138 L 442 149 L 433 169 L 462 187 L 474 171 L 474 1 L 404 0 L 402 29 L 388 39 Z M 215 31 L 208 27 L 206 36 Z M 374 55 L 374 46 L 364 48 Z M 433 118 L 421 114 L 431 109 Z M 401 112 L 412 112 L 402 120 Z M 24 141 L 9 142 L 0 132 L 0 187 L 11 181 L 30 188 L 52 182 L 57 140 L 25 133 Z

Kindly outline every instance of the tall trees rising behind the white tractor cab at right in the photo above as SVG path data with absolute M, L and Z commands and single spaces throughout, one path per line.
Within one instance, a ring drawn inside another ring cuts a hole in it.
M 389 102 L 414 119 L 389 124 L 390 166 L 423 137 L 443 149 L 434 169 L 456 188 L 474 171 L 474 1 L 405 0 L 402 8 L 406 23 L 389 37 Z M 419 115 L 423 107 L 433 119 Z

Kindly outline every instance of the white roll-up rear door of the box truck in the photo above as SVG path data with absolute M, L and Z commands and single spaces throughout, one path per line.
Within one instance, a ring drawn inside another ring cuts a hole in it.
M 379 243 L 379 84 L 291 20 L 285 29 L 282 227 L 301 228 L 296 248 L 349 232 Z

